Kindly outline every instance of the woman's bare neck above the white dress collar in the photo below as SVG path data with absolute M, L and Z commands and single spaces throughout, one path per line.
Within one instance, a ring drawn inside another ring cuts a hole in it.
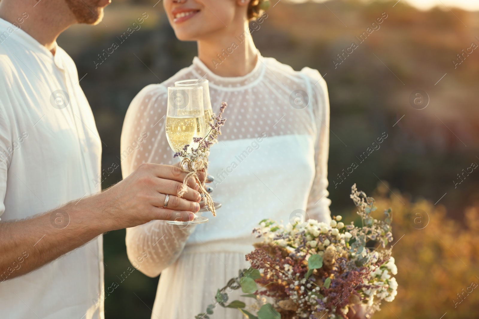
M 256 66 L 258 50 L 248 23 L 236 32 L 229 31 L 199 40 L 198 58 L 221 77 L 241 77 L 250 73 Z

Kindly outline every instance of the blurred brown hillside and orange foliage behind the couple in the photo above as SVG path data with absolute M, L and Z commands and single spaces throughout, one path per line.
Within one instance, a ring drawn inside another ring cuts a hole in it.
M 195 43 L 176 39 L 157 1 L 114 0 L 102 23 L 74 26 L 58 39 L 77 64 L 108 145 L 105 172 L 118 162 L 131 100 L 196 55 Z M 318 69 L 328 83 L 332 213 L 355 219 L 353 183 L 374 196 L 379 208 L 393 208 L 399 294 L 375 318 L 479 318 L 479 289 L 466 292 L 479 283 L 479 172 L 472 168 L 479 164 L 479 1 L 272 4 L 252 34 L 262 55 L 296 70 Z M 141 29 L 98 64 L 103 50 L 144 12 Z M 359 44 L 357 38 L 383 12 L 380 28 Z M 358 48 L 342 55 L 352 42 Z M 383 132 L 388 137 L 380 149 L 359 159 Z M 353 162 L 359 167 L 344 178 Z M 104 176 L 103 188 L 121 180 L 121 171 Z M 125 230 L 105 234 L 104 256 L 105 287 L 118 284 L 105 293 L 106 318 L 150 318 L 159 278 L 139 271 L 119 278 L 131 266 Z

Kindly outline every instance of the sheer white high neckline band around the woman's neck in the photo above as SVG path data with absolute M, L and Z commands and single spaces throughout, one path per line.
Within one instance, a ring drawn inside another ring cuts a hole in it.
M 218 89 L 237 90 L 251 87 L 261 80 L 264 74 L 264 58 L 258 52 L 258 59 L 256 65 L 250 73 L 241 77 L 222 77 L 215 74 L 203 61 L 197 56 L 193 59 L 192 72 L 198 78 L 206 78 L 209 81 L 209 86 Z

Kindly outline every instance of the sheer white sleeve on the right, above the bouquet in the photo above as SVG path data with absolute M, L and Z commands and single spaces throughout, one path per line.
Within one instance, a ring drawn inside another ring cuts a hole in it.
M 328 198 L 328 156 L 329 156 L 329 125 L 330 105 L 326 81 L 319 72 L 305 67 L 301 72 L 306 75 L 308 94 L 312 113 L 316 123 L 317 134 L 315 143 L 316 175 L 308 198 L 307 212 L 309 218 L 328 222 L 331 220 Z

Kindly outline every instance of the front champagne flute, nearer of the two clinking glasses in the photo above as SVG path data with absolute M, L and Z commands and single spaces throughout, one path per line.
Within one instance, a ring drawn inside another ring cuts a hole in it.
M 189 144 L 186 152 L 191 153 L 197 148 L 194 137 L 204 137 L 205 110 L 203 108 L 202 87 L 169 87 L 168 106 L 166 111 L 166 139 L 171 149 L 176 153 Z M 192 221 L 167 220 L 174 225 L 201 224 L 208 221 L 206 217 L 194 214 Z

